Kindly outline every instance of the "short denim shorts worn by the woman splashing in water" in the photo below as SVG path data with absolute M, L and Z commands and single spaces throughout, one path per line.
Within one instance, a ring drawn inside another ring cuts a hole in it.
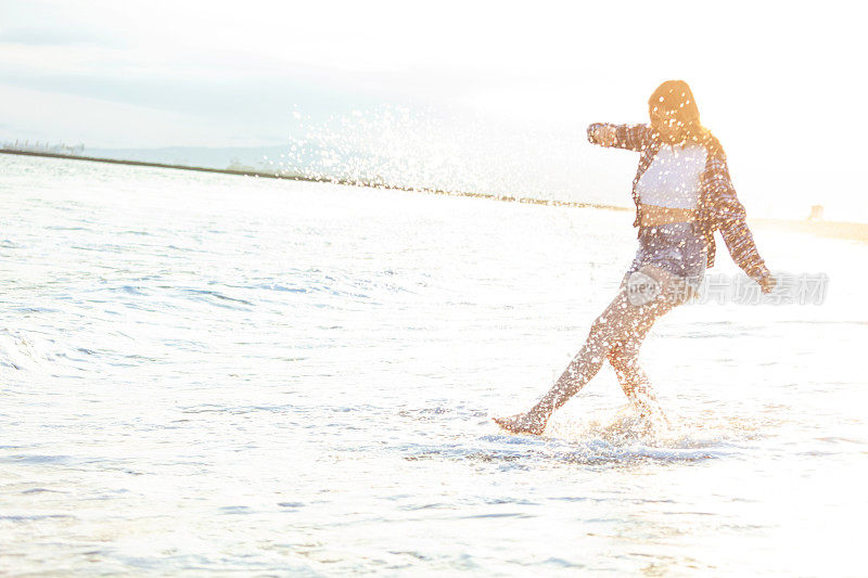
M 639 229 L 639 251 L 628 273 L 646 265 L 665 269 L 699 287 L 705 275 L 707 249 L 694 222 L 669 222 Z

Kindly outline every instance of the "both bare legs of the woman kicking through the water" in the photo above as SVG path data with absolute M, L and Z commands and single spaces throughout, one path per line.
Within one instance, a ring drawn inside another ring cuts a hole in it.
M 616 347 L 618 352 L 614 355 L 614 359 L 618 368 L 623 370 L 622 387 L 625 383 L 628 384 L 628 387 L 625 387 L 627 396 L 635 399 L 649 393 L 648 377 L 638 367 L 638 345 L 641 344 L 654 321 L 673 307 L 672 301 L 664 295 L 649 304 L 634 306 L 629 303 L 627 292 L 622 286 L 612 303 L 593 321 L 585 345 L 542 399 L 527 413 L 520 413 L 511 418 L 496 418 L 495 422 L 510 432 L 541 434 L 551 414 L 597 375 L 607 358 L 611 362 L 612 350 Z M 623 359 L 621 356 L 627 351 L 629 352 L 626 359 Z M 636 355 L 633 355 L 633 351 L 636 351 Z M 621 377 L 618 380 L 621 381 Z M 629 393 L 627 393 L 628 389 Z M 650 396 L 653 399 L 652 393 Z

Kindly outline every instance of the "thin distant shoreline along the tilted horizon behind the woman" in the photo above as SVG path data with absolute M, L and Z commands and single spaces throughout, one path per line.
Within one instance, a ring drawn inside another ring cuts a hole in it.
M 376 182 L 353 181 L 349 179 L 316 179 L 301 175 L 281 175 L 279 172 L 263 172 L 256 170 L 234 170 L 228 168 L 193 167 L 189 165 L 169 165 L 165 163 L 149 163 L 145 160 L 124 160 L 119 158 L 101 158 L 95 156 L 66 155 L 60 153 L 42 153 L 36 151 L 15 151 L 11 149 L 0 149 L 0 154 L 20 156 L 40 156 L 46 158 L 62 158 L 68 160 L 87 160 L 91 163 L 108 163 L 113 165 L 129 165 L 136 167 L 169 168 L 177 170 L 192 170 L 196 172 L 216 172 L 219 175 L 235 175 L 239 177 L 256 177 L 263 179 L 283 179 L 303 182 L 323 182 L 332 184 L 344 184 L 350 187 L 367 187 L 372 189 L 388 189 L 397 191 L 408 191 L 414 193 L 429 193 L 449 196 L 470 196 L 476 198 L 487 198 L 492 201 L 503 201 L 508 203 L 526 203 L 533 205 L 547 205 L 556 207 L 579 207 L 599 208 L 605 210 L 633 211 L 633 207 L 621 207 L 617 205 L 604 205 L 599 203 L 579 203 L 575 201 L 554 201 L 546 198 L 533 198 L 524 196 L 496 195 L 493 193 L 467 193 L 458 191 L 444 191 L 441 189 L 424 189 L 412 187 L 398 187 Z M 852 221 L 825 221 L 825 220 L 797 220 L 797 219 L 767 219 L 749 218 L 751 224 L 761 228 L 783 230 L 788 232 L 810 233 L 827 239 L 845 239 L 868 243 L 868 223 Z

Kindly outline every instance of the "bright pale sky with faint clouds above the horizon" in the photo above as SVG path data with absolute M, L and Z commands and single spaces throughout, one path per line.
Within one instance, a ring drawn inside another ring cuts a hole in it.
M 853 5 L 4 0 L 0 140 L 277 144 L 294 111 L 316 123 L 395 104 L 584 147 L 588 123 L 646 121 L 648 95 L 681 78 L 749 209 L 789 216 L 776 207 L 795 200 L 799 215 L 816 202 L 868 220 Z M 583 154 L 633 177 L 627 153 Z

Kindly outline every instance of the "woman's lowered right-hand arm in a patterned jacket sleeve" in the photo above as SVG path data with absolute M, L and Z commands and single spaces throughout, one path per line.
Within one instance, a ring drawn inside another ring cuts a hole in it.
M 720 229 L 732 260 L 760 284 L 763 293 L 769 293 L 776 284 L 775 278 L 756 248 L 748 228 L 748 213 L 736 195 L 723 155 L 715 155 L 709 160 L 704 180 L 705 187 L 711 188 L 709 198 L 713 221 Z

